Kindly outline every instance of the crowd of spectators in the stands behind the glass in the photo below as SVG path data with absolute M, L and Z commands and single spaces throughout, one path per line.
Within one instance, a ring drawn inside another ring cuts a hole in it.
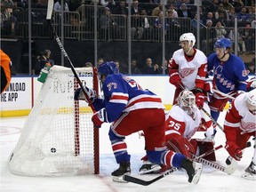
M 31 0 L 33 9 L 47 9 L 47 0 Z M 65 12 L 77 12 L 80 18 L 72 18 L 71 25 L 88 23 L 86 6 L 92 6 L 94 0 L 64 0 Z M 162 28 L 167 41 L 179 41 L 179 36 L 188 31 L 196 34 L 197 12 L 193 0 L 167 0 L 167 4 L 160 4 L 160 0 L 133 0 L 131 4 L 131 36 L 138 41 L 162 38 Z M 19 29 L 19 17 L 15 17 L 12 8 L 28 9 L 27 0 L 0 0 L 1 3 L 1 34 L 15 36 Z M 119 23 L 116 24 L 115 15 L 128 15 L 126 0 L 96 0 L 96 4 L 103 10 L 99 13 L 99 38 L 103 41 L 109 39 L 125 39 L 120 33 Z M 235 19 L 238 21 L 238 52 L 255 52 L 255 1 L 253 0 L 206 0 L 202 1 L 199 14 L 199 26 L 201 32 L 201 50 L 207 51 L 209 44 L 214 44 L 220 37 L 229 37 L 235 44 Z M 54 1 L 54 11 L 61 10 L 60 0 Z M 163 12 L 165 10 L 165 12 Z M 32 12 L 32 15 L 36 14 Z M 38 16 L 38 15 L 37 15 Z M 92 12 L 90 12 L 92 17 Z M 162 18 L 165 17 L 164 23 Z M 42 18 L 45 18 L 45 16 Z M 91 18 L 92 19 L 92 18 Z M 183 19 L 189 21 L 191 28 Z M 43 19 L 42 19 L 43 20 Z M 66 20 L 65 20 L 66 21 Z M 185 23 L 185 24 L 184 24 Z M 125 23 L 127 24 L 127 22 Z M 93 26 L 93 25 L 92 25 Z M 110 26 L 110 29 L 109 29 Z M 88 28 L 87 28 L 88 29 Z M 124 31 L 126 31 L 124 29 Z M 92 30 L 93 32 L 93 30 Z M 156 35 L 156 36 L 155 36 Z M 107 38 L 108 36 L 108 38 Z M 92 36 L 94 38 L 94 36 Z M 211 46 L 212 46 L 211 45 Z M 210 49 L 212 49 L 210 47 Z M 150 58 L 147 59 L 150 63 Z M 152 62 L 152 60 L 151 60 Z M 136 65 L 133 60 L 132 65 Z M 153 65 L 150 73 L 161 74 L 162 64 Z M 148 64 L 149 66 L 149 64 Z M 132 69 L 133 70 L 133 69 Z M 134 69 L 141 73 L 147 73 L 147 68 Z M 165 70 L 165 68 L 164 68 Z M 144 72 L 143 72 L 144 71 Z

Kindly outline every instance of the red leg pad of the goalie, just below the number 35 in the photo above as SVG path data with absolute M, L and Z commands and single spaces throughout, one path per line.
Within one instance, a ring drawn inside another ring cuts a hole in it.
M 191 153 L 195 154 L 196 150 L 191 143 L 182 137 L 174 137 L 166 142 L 166 147 L 175 152 L 181 153 L 184 156 L 192 158 Z

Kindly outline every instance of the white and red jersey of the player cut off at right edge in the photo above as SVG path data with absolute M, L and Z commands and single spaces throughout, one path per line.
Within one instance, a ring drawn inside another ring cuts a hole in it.
M 232 101 L 224 121 L 225 128 L 240 128 L 242 132 L 255 132 L 255 116 L 247 108 L 246 95 L 244 92 Z

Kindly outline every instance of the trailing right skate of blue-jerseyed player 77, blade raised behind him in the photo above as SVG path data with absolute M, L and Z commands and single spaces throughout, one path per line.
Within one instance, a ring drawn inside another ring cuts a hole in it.
M 197 184 L 203 171 L 202 164 L 198 164 L 194 161 L 190 161 L 188 158 L 185 158 L 181 162 L 181 167 L 187 171 L 188 182 Z

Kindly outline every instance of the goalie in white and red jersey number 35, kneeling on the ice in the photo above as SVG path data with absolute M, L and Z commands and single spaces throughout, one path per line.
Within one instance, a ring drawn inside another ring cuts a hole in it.
M 191 154 L 201 155 L 211 150 L 213 148 L 212 141 L 192 139 L 200 122 L 201 113 L 196 107 L 195 95 L 187 89 L 180 92 L 178 103 L 165 115 L 166 147 L 189 158 L 192 158 Z M 205 156 L 205 158 L 212 161 L 216 160 L 214 153 L 211 156 Z M 156 172 L 156 164 L 150 164 L 146 161 L 146 156 L 142 160 L 145 162 L 140 168 L 140 174 Z M 168 168 L 168 166 L 162 167 L 161 171 Z M 159 169 L 161 168 L 158 167 Z

